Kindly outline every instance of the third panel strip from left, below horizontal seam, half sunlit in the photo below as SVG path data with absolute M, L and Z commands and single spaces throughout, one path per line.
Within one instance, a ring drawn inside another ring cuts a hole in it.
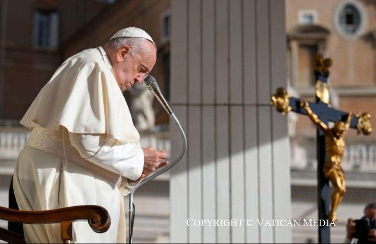
M 215 201 L 214 106 L 202 107 L 202 217 L 217 219 Z M 215 243 L 215 227 L 203 227 L 203 243 Z

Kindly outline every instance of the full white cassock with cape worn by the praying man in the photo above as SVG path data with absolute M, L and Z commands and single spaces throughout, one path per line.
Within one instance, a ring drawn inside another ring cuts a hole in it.
M 139 181 L 144 153 L 129 108 L 102 47 L 66 60 L 42 88 L 21 124 L 32 133 L 13 187 L 20 210 L 99 205 L 105 233 L 73 222 L 73 242 L 126 242 L 124 196 Z M 62 242 L 60 224 L 24 224 L 27 242 Z

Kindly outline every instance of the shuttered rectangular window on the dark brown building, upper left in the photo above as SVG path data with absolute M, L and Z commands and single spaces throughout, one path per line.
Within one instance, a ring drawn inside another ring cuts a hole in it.
M 59 14 L 56 11 L 36 11 L 33 16 L 32 44 L 41 48 L 59 46 Z

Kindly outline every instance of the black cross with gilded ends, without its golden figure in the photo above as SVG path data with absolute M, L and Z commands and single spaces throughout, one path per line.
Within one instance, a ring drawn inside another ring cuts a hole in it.
M 332 61 L 331 59 L 323 60 L 320 54 L 317 54 L 315 58 L 315 67 L 314 67 L 314 74 L 316 79 L 316 85 L 323 85 L 321 87 L 327 88 L 327 78 L 329 76 L 328 67 L 331 66 Z M 316 86 L 316 91 L 320 86 Z M 280 89 L 280 90 L 279 90 Z M 282 112 L 282 114 L 286 114 L 288 111 L 294 111 L 299 114 L 308 113 L 300 107 L 300 99 L 295 97 L 290 97 L 287 92 L 283 88 L 277 89 L 277 93 L 273 95 L 279 97 L 280 99 L 272 101 L 271 104 L 275 105 L 277 110 Z M 280 93 L 278 93 L 278 91 Z M 321 92 L 321 93 L 320 93 Z M 328 90 L 321 90 L 320 92 L 316 92 L 316 101 L 315 102 L 308 102 L 309 108 L 311 108 L 312 112 L 317 114 L 319 119 L 324 122 L 326 125 L 329 121 L 337 122 L 342 120 L 343 122 L 348 117 L 348 112 L 337 110 L 331 108 L 327 105 L 329 103 L 329 91 Z M 326 97 L 322 96 L 323 92 L 326 92 Z M 279 95 L 281 96 L 279 96 Z M 318 97 L 318 95 L 321 96 Z M 320 95 L 321 94 L 321 95 Z M 274 97 L 275 98 L 275 97 Z M 321 101 L 324 99 L 325 101 Z M 326 102 L 326 103 L 325 103 Z M 288 105 L 290 108 L 288 107 Z M 369 123 L 368 114 L 368 123 Z M 360 117 L 353 116 L 350 121 L 350 128 L 358 129 L 358 122 Z M 363 119 L 363 118 L 362 118 Z M 368 132 L 364 132 L 364 128 L 361 128 L 364 134 L 369 134 L 371 131 L 370 124 L 368 125 Z M 325 178 L 323 167 L 327 160 L 326 155 L 326 148 L 325 148 L 325 134 L 317 127 L 317 203 L 318 203 L 318 219 L 319 220 L 329 220 L 329 205 L 330 205 L 330 190 L 329 190 L 329 181 Z M 330 222 L 329 222 L 330 223 Z M 330 226 L 319 226 L 318 227 L 318 243 L 330 243 Z

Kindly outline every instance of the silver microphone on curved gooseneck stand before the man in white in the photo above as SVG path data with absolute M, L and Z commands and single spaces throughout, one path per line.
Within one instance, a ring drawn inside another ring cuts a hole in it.
M 187 150 L 187 140 L 186 140 L 186 136 L 185 136 L 185 133 L 183 131 L 183 128 L 180 125 L 179 120 L 177 119 L 177 117 L 175 116 L 173 111 L 171 110 L 170 106 L 168 105 L 166 99 L 162 95 L 161 89 L 159 89 L 157 81 L 151 75 L 146 77 L 144 81 L 145 81 L 146 87 L 150 90 L 150 92 L 152 92 L 156 96 L 158 101 L 161 103 L 162 107 L 167 111 L 168 114 L 170 114 L 170 117 L 174 120 L 175 124 L 179 128 L 180 134 L 181 134 L 182 139 L 183 139 L 183 151 L 181 152 L 179 157 L 177 157 L 177 159 L 175 161 L 173 161 L 173 163 L 171 163 L 170 165 L 162 168 L 161 170 L 158 170 L 153 175 L 145 178 L 143 181 L 141 181 L 140 184 L 138 184 L 135 188 L 133 188 L 132 192 L 129 194 L 129 243 L 133 243 L 133 239 L 132 239 L 132 237 L 133 237 L 133 224 L 134 224 L 134 221 L 135 221 L 135 205 L 133 204 L 133 193 L 141 185 L 149 182 L 150 180 L 156 178 L 158 175 L 161 175 L 162 173 L 164 173 L 167 170 L 174 167 L 175 164 L 179 163 L 179 161 L 184 157 L 184 154 Z

